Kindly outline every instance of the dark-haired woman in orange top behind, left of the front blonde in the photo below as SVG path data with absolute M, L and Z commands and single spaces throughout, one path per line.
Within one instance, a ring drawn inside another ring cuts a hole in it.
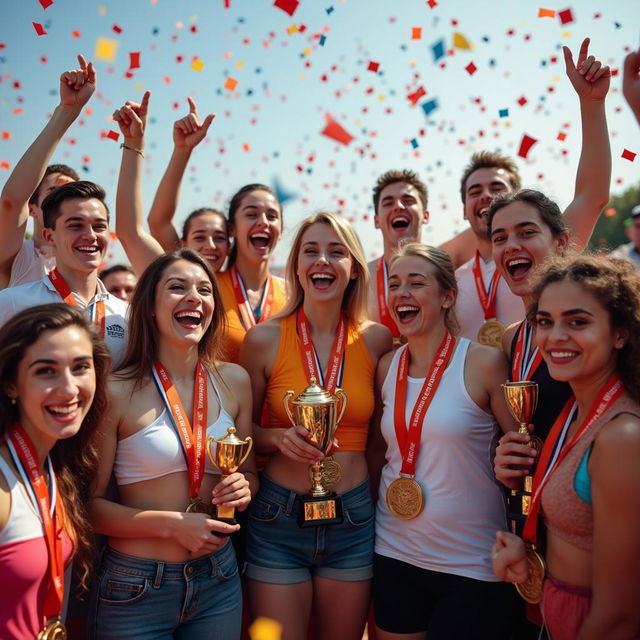
M 227 269 L 217 278 L 227 314 L 223 353 L 238 362 L 247 331 L 285 305 L 284 283 L 269 273 L 269 259 L 282 235 L 282 207 L 269 187 L 248 184 L 231 198 L 228 224 L 234 244 Z

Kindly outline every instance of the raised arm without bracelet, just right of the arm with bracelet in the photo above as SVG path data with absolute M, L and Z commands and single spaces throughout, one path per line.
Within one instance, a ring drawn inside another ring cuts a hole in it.
M 151 235 L 162 245 L 165 251 L 173 251 L 180 238 L 172 224 L 178 206 L 180 183 L 184 176 L 191 152 L 204 140 L 215 115 L 210 113 L 204 122 L 200 122 L 198 107 L 193 98 L 189 101 L 189 113 L 173 125 L 173 153 L 162 180 L 158 185 L 147 222 Z

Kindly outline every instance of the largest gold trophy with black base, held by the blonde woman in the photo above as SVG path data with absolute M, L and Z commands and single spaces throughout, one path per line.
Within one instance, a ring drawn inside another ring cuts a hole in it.
M 311 384 L 292 400 L 293 395 L 293 391 L 287 391 L 282 398 L 291 424 L 294 427 L 302 425 L 310 434 L 309 441 L 326 455 L 347 406 L 347 394 L 342 389 L 336 389 L 336 394 L 332 395 L 321 389 L 312 377 Z M 342 402 L 338 413 L 339 401 Z M 293 413 L 289 404 L 293 405 Z M 337 463 L 333 462 L 333 466 L 337 466 Z M 303 499 L 298 518 L 301 527 L 342 522 L 342 501 L 323 485 L 323 467 L 324 461 L 315 462 L 310 467 L 313 484 Z

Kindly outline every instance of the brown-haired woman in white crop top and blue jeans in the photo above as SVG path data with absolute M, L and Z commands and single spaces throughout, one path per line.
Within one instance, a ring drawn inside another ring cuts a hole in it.
M 189 249 L 155 260 L 130 307 L 131 340 L 110 382 L 93 520 L 109 536 L 96 579 L 90 637 L 240 637 L 242 596 L 228 535 L 213 505 L 246 508 L 252 457 L 229 476 L 207 440 L 251 431 L 251 387 L 215 360 L 222 308 L 208 263 Z M 215 450 L 215 447 L 214 447 Z M 108 493 L 115 475 L 119 501 Z

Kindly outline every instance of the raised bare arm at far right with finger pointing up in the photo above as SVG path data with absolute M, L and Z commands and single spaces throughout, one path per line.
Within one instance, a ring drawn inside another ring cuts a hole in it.
M 573 201 L 564 212 L 572 239 L 579 250 L 587 243 L 600 212 L 609 201 L 611 147 L 604 101 L 609 91 L 611 70 L 589 55 L 585 38 L 577 64 L 568 47 L 563 47 L 567 77 L 580 100 L 582 151 L 576 174 Z

